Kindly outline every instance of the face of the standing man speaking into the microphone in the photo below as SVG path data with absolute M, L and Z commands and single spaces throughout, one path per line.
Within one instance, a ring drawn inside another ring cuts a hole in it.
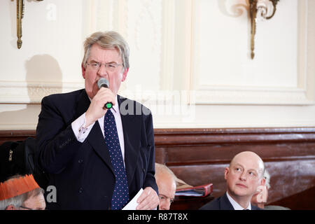
M 109 89 L 111 89 L 114 94 L 117 94 L 120 83 L 127 77 L 128 69 L 124 69 L 123 65 L 120 65 L 115 71 L 109 71 L 109 69 L 104 66 L 104 63 L 123 64 L 118 50 L 115 48 L 102 48 L 97 44 L 92 45 L 87 63 L 91 64 L 95 62 L 102 63 L 102 66 L 99 69 L 94 69 L 88 64 L 86 64 L 85 67 L 82 65 L 82 76 L 85 79 L 85 91 L 87 95 L 93 99 L 95 94 L 97 94 L 99 91 L 97 80 L 99 80 L 99 78 L 109 80 Z

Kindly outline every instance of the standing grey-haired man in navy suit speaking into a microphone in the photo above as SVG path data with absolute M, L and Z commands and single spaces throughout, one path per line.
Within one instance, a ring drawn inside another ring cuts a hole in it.
M 47 209 L 119 210 L 144 189 L 137 209 L 158 206 L 151 112 L 118 95 L 129 69 L 129 46 L 114 31 L 84 43 L 85 89 L 41 102 L 37 160 L 57 188 Z M 100 78 L 101 83 L 97 85 Z M 136 113 L 136 109 L 137 113 Z M 128 113 L 120 113 L 125 112 Z

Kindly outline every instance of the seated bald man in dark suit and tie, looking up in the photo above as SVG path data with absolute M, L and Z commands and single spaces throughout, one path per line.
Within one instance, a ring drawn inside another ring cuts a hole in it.
M 265 185 L 265 166 L 253 152 L 242 152 L 225 167 L 226 193 L 205 204 L 200 210 L 261 210 L 251 204 L 258 186 Z

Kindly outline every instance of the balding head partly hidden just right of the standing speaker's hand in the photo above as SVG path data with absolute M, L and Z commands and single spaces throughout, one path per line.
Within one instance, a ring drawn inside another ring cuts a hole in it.
M 156 183 L 159 190 L 159 209 L 169 210 L 175 197 L 176 183 L 170 174 L 165 173 L 156 176 Z

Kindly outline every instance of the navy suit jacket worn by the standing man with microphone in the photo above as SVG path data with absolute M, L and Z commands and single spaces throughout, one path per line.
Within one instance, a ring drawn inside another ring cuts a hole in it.
M 151 111 L 144 108 L 146 113 L 137 115 L 144 106 L 120 96 L 118 104 L 128 111 L 120 114 L 130 200 L 141 188 L 151 187 L 158 193 Z M 95 122 L 83 143 L 71 128 L 89 106 L 84 89 L 52 94 L 41 102 L 36 158 L 50 174 L 48 185 L 57 189 L 57 202 L 48 202 L 47 209 L 111 209 L 115 176 L 99 123 Z

